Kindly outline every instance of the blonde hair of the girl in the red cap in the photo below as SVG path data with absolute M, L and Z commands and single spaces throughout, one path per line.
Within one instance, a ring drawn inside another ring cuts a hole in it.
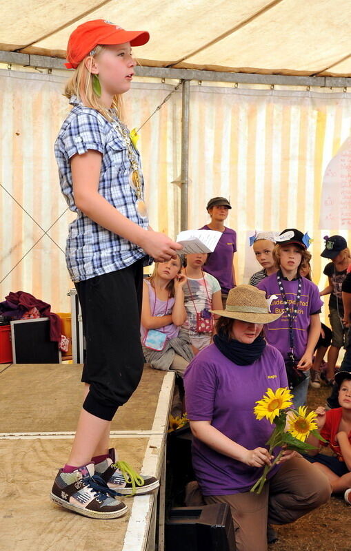
M 108 109 L 103 106 L 101 98 L 95 94 L 92 87 L 92 73 L 86 67 L 86 59 L 92 56 L 98 56 L 105 49 L 103 45 L 97 45 L 88 56 L 79 63 L 77 69 L 74 70 L 72 77 L 68 81 L 65 87 L 65 93 L 63 94 L 66 98 L 71 98 L 72 96 L 77 96 L 84 105 L 91 107 L 92 109 L 101 113 L 102 116 L 112 121 L 112 116 L 109 113 Z M 91 55 L 93 54 L 93 55 Z M 123 104 L 121 94 L 115 94 L 112 98 L 112 109 L 116 110 L 117 116 L 123 118 Z

